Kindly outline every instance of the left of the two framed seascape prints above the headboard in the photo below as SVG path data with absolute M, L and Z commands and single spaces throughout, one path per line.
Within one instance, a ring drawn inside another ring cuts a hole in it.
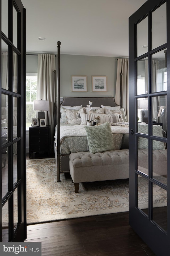
M 87 91 L 87 75 L 72 75 L 71 91 Z

